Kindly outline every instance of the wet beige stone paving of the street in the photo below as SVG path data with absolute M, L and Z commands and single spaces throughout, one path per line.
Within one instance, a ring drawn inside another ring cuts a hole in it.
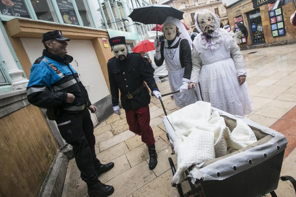
M 247 84 L 252 97 L 253 112 L 247 118 L 271 127 L 286 135 L 289 143 L 282 167 L 283 175 L 296 177 L 296 44 L 258 48 L 242 51 L 247 68 Z M 253 53 L 251 53 L 253 52 Z M 255 53 L 254 53 L 255 52 Z M 170 92 L 168 81 L 164 78 L 158 84 L 162 94 Z M 168 114 L 178 108 L 169 96 L 163 97 Z M 158 197 L 178 196 L 176 188 L 171 186 L 173 177 L 168 163 L 171 155 L 165 128 L 162 123 L 164 111 L 160 101 L 152 97 L 150 107 L 150 125 L 153 129 L 158 154 L 158 164 L 149 170 L 149 154 L 146 145 L 128 130 L 125 112 L 112 114 L 94 130 L 96 153 L 102 163 L 114 162 L 115 167 L 99 176 L 102 183 L 113 185 L 112 196 L 119 197 Z M 189 191 L 188 183 L 182 184 L 184 192 Z M 293 196 L 289 183 L 279 184 L 278 196 Z M 63 197 L 88 196 L 86 183 L 80 178 L 75 160 L 69 162 L 64 185 Z

